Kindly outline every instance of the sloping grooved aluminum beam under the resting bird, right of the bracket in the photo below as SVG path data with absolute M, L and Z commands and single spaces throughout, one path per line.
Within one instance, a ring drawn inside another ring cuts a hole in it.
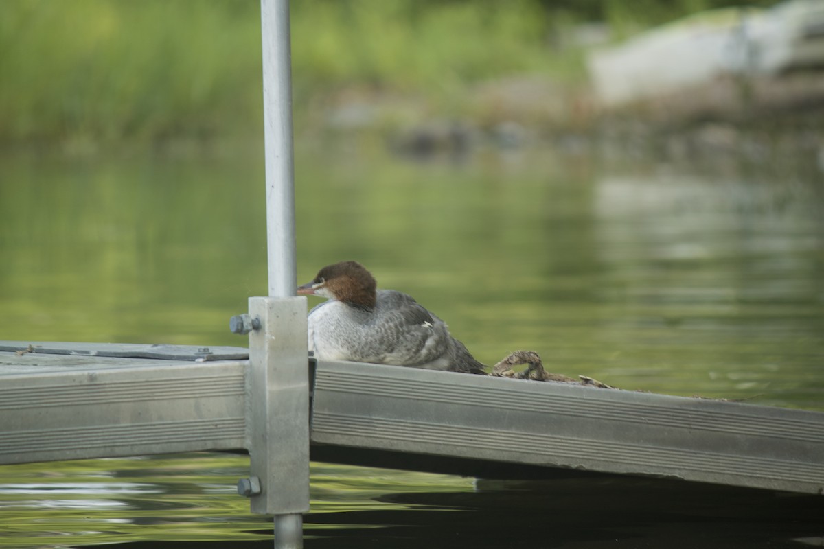
M 824 493 L 818 412 L 329 361 L 317 364 L 314 395 L 312 444 L 342 454 Z

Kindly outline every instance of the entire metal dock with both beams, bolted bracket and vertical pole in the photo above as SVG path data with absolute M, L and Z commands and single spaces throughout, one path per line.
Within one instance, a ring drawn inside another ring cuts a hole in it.
M 486 478 L 619 473 L 824 493 L 824 413 L 307 360 L 295 296 L 288 0 L 261 0 L 269 292 L 242 347 L 0 342 L 0 463 L 245 450 L 238 491 L 302 547 L 309 459 Z

